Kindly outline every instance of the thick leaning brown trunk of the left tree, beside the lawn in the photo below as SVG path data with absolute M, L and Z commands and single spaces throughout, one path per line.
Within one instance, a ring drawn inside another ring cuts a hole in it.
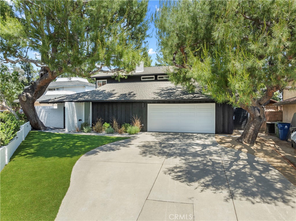
M 48 72 L 46 68 L 41 68 L 39 77 L 31 86 L 25 88 L 22 94 L 19 95 L 19 100 L 32 128 L 35 130 L 45 130 L 46 126 L 39 119 L 34 103 L 44 94 L 49 83 L 57 77 L 57 74 L 55 72 Z

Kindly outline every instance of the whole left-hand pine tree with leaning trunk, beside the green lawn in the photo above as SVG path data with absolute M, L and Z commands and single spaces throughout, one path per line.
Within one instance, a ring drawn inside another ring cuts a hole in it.
M 149 28 L 147 1 L 1 1 L 1 61 L 27 62 L 39 78 L 19 95 L 34 129 L 46 129 L 34 108 L 61 74 L 89 77 L 107 66 L 117 76 L 139 64 Z M 28 51 L 41 59 L 27 58 Z

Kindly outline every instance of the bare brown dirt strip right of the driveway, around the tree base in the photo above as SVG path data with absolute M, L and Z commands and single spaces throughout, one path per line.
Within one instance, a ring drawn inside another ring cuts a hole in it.
M 291 147 L 291 143 L 282 141 L 275 136 L 260 133 L 256 144 L 240 144 L 235 141 L 240 136 L 239 131 L 233 134 L 215 134 L 218 144 L 235 150 L 240 150 L 252 154 L 270 163 L 284 177 L 296 186 L 296 149 Z M 291 165 L 289 162 L 293 165 Z

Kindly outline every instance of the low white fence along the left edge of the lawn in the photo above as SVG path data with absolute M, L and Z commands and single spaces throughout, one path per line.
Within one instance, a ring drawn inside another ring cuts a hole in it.
M 9 144 L 0 148 L 0 170 L 8 164 L 10 157 L 13 155 L 20 143 L 25 139 L 31 130 L 30 122 L 27 122 L 20 126 L 20 130 L 17 132 L 17 136 L 13 138 Z

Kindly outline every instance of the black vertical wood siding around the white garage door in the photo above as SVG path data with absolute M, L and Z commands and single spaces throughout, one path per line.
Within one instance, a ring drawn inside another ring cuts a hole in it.
M 92 102 L 91 122 L 102 118 L 104 122 L 111 122 L 112 116 L 118 119 L 119 124 L 131 123 L 132 116 L 141 118 L 144 124 L 142 131 L 147 131 L 147 104 L 155 103 L 213 103 L 213 101 L 145 101 L 145 102 Z M 216 134 L 232 134 L 233 108 L 227 104 L 216 104 Z

